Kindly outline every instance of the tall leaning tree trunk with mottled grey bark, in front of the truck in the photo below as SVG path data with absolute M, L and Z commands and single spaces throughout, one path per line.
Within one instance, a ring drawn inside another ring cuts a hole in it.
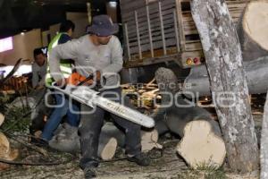
M 254 121 L 239 38 L 227 5 L 223 0 L 192 0 L 191 11 L 204 49 L 230 168 L 242 173 L 254 171 L 259 163 Z

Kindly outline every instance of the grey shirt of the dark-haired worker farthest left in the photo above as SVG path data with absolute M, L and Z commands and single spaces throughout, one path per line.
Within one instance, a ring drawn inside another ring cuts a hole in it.
M 32 87 L 36 88 L 38 85 L 45 85 L 45 76 L 46 76 L 46 62 L 42 66 L 39 66 L 37 63 L 32 64 Z

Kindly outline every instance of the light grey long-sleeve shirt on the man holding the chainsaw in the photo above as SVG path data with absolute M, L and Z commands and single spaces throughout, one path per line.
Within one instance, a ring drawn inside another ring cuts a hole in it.
M 73 59 L 76 70 L 88 77 L 92 72 L 100 71 L 105 77 L 105 89 L 116 88 L 120 84 L 118 72 L 122 68 L 122 49 L 118 38 L 112 36 L 107 45 L 96 46 L 89 36 L 73 39 L 54 47 L 49 53 L 49 68 L 55 81 L 63 79 L 60 71 L 60 59 Z

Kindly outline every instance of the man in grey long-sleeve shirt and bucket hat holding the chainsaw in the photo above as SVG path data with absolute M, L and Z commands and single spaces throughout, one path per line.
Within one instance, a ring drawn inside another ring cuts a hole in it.
M 71 58 L 75 61 L 76 70 L 84 78 L 94 74 L 93 80 L 87 84 L 98 87 L 99 95 L 131 107 L 130 99 L 121 100 L 120 78 L 118 72 L 122 68 L 122 49 L 118 38 L 113 36 L 118 31 L 107 15 L 98 15 L 93 18 L 92 25 L 88 28 L 88 35 L 66 44 L 54 47 L 49 54 L 49 63 L 52 77 L 58 86 L 66 83 L 60 70 L 60 59 Z M 77 78 L 76 78 L 77 79 Z M 88 87 L 90 88 L 90 87 Z M 115 98 L 115 96 L 117 96 Z M 104 124 L 105 110 L 100 107 L 93 108 L 81 104 L 80 142 L 82 158 L 80 167 L 84 170 L 86 178 L 96 176 L 95 167 L 98 166 L 97 148 L 98 138 Z M 90 113 L 87 113 L 90 111 Z M 148 166 L 149 158 L 141 153 L 140 125 L 127 121 L 118 115 L 110 114 L 113 122 L 119 124 L 126 134 L 127 158 L 139 166 Z

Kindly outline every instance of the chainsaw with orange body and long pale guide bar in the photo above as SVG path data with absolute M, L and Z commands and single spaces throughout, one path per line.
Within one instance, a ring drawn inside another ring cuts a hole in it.
M 99 96 L 99 92 L 92 90 L 85 84 L 91 85 L 93 74 L 88 77 L 83 77 L 79 73 L 71 74 L 67 79 L 67 85 L 64 88 L 60 88 L 54 82 L 51 86 L 54 90 L 58 90 L 68 95 L 69 97 L 79 101 L 81 104 L 87 105 L 88 107 L 101 107 L 106 111 L 118 115 L 123 119 L 129 120 L 132 123 L 142 125 L 147 128 L 155 126 L 153 118 L 139 113 L 130 107 L 125 107 L 120 103 L 114 102 L 108 98 Z M 96 85 L 97 86 L 97 85 Z

